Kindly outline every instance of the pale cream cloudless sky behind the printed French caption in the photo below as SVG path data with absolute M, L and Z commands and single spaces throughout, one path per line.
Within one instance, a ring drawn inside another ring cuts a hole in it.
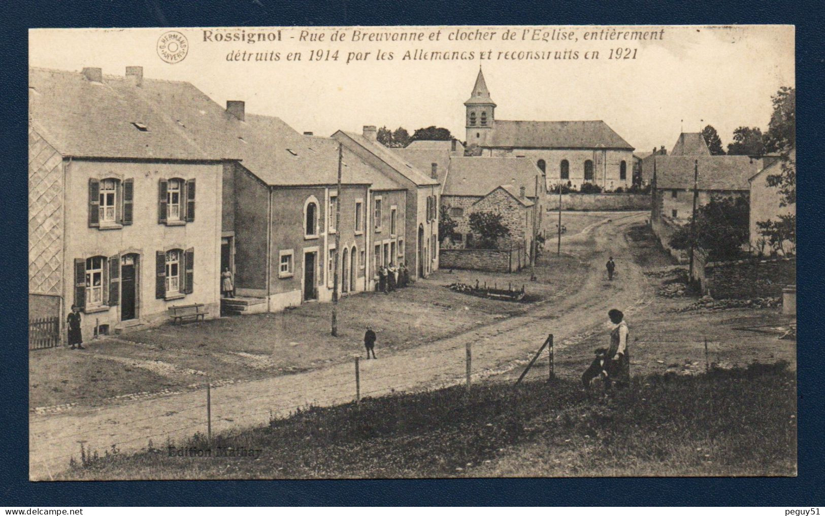
M 593 26 L 546 26 L 540 30 L 572 31 L 578 40 L 521 40 L 526 27 L 510 27 L 517 40 L 502 41 L 507 27 L 461 27 L 461 33 L 495 31 L 490 40 L 450 41 L 456 27 L 363 27 L 281 30 L 281 41 L 247 44 L 216 41 L 216 33 L 273 32 L 276 28 L 243 27 L 205 31 L 179 30 L 189 42 L 186 58 L 166 63 L 157 45 L 167 28 L 36 29 L 29 34 L 31 66 L 77 70 L 103 68 L 123 75 L 126 66 L 143 66 L 144 77 L 187 81 L 221 105 L 246 101 L 247 112 L 275 115 L 299 131 L 330 135 L 338 129 L 361 131 L 363 125 L 414 129 L 436 125 L 465 138 L 464 106 L 479 65 L 500 120 L 605 120 L 639 152 L 664 145 L 668 150 L 683 129 L 713 125 L 723 144 L 740 125 L 767 129 L 771 96 L 794 86 L 793 26 L 612 27 L 616 30 L 664 28 L 662 40 L 585 41 Z M 342 30 L 351 39 L 362 32 L 423 32 L 441 29 L 439 41 L 333 42 Z M 323 41 L 300 41 L 301 30 L 324 35 Z M 606 59 L 610 49 L 635 49 L 635 59 Z M 337 61 L 309 60 L 309 52 L 339 51 Z M 403 60 L 407 50 L 474 52 L 472 60 Z M 230 62 L 235 51 L 280 53 L 279 61 Z M 577 51 L 578 59 L 479 60 L 493 51 Z M 598 51 L 600 59 L 584 59 Z M 300 61 L 286 54 L 300 52 Z M 363 60 L 346 63 L 350 53 Z M 364 55 L 370 52 L 369 55 Z M 378 60 L 380 53 L 394 59 Z

